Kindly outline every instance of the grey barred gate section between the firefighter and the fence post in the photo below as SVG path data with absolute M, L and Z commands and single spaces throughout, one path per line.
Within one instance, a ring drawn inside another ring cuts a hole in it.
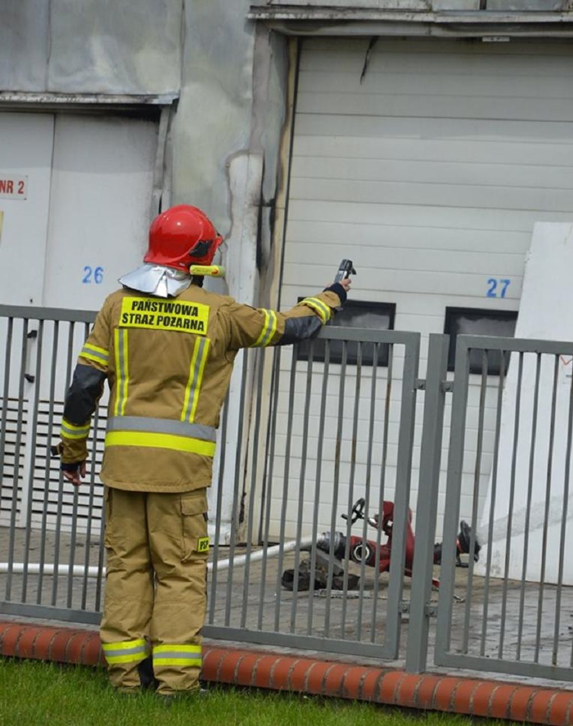
M 205 635 L 397 657 L 419 348 L 418 333 L 327 326 L 298 346 L 248 351 L 247 486 L 242 497 L 235 479 L 227 562 L 215 538 Z M 383 533 L 351 512 L 362 500 L 381 519 L 386 499 L 393 547 L 379 578 Z

